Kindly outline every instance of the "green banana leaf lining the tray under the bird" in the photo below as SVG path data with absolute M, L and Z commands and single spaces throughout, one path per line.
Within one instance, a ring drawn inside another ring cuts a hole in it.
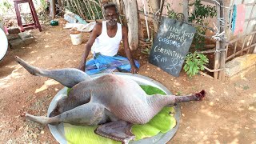
M 146 94 L 165 94 L 162 90 L 154 86 L 141 86 Z M 70 89 L 68 89 L 68 92 Z M 170 114 L 171 113 L 171 114 Z M 174 108 L 165 107 L 157 115 L 150 120 L 150 122 L 144 125 L 132 126 L 132 133 L 135 135 L 135 141 L 142 138 L 152 137 L 159 132 L 166 133 L 170 129 L 176 126 L 176 120 L 174 118 Z M 94 144 L 94 143 L 106 143 L 106 144 L 121 144 L 111 140 L 109 138 L 101 137 L 94 134 L 94 130 L 97 126 L 74 126 L 70 124 L 64 124 L 64 131 L 67 143 L 75 144 Z

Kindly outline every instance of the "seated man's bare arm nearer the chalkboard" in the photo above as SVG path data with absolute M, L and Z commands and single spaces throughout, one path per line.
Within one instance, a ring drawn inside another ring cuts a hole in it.
M 131 70 L 130 72 L 132 74 L 138 73 L 138 67 L 135 66 L 135 62 L 134 62 L 134 58 L 130 52 L 130 47 L 129 47 L 129 43 L 128 43 L 128 30 L 126 26 L 122 26 L 122 42 L 123 42 L 123 46 L 126 52 L 126 57 L 128 58 L 129 62 L 130 62 L 130 66 L 131 66 Z

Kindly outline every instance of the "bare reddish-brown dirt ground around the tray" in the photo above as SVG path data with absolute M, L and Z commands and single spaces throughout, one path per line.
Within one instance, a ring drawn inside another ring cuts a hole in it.
M 58 143 L 48 126 L 24 118 L 28 112 L 46 115 L 48 106 L 62 85 L 49 78 L 36 77 L 14 61 L 14 55 L 46 69 L 78 67 L 84 43 L 73 46 L 69 30 L 44 26 L 33 30 L 36 41 L 18 50 L 8 50 L 0 62 L 0 143 Z M 88 38 L 88 34 L 85 35 Z M 91 57 L 91 56 L 90 56 Z M 174 78 L 147 62 L 140 51 L 134 57 L 141 63 L 139 74 L 161 82 L 174 94 L 206 90 L 202 102 L 182 103 L 180 126 L 168 143 L 256 143 L 256 69 L 225 82 L 184 72 Z

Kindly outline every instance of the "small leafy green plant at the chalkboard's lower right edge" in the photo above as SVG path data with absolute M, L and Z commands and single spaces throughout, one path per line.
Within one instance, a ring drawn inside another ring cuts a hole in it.
M 186 64 L 183 69 L 186 71 L 186 74 L 193 77 L 195 74 L 198 74 L 199 70 L 204 70 L 204 65 L 208 62 L 209 60 L 206 58 L 206 55 L 198 54 L 195 51 L 186 56 Z

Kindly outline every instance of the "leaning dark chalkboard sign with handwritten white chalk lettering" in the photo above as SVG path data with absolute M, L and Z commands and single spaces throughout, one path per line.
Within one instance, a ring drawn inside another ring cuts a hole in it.
M 194 26 L 162 18 L 150 50 L 150 63 L 178 77 L 195 33 Z

